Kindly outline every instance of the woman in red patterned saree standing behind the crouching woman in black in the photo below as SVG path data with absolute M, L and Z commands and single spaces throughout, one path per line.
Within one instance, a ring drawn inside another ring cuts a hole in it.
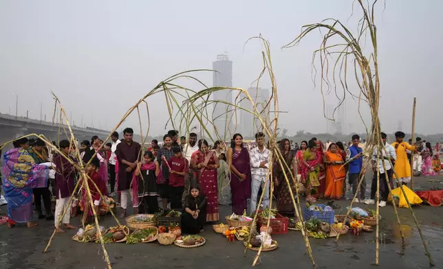
M 198 141 L 198 148 L 199 150 L 194 152 L 191 157 L 191 164 L 202 195 L 206 196 L 206 222 L 216 222 L 220 218 L 217 190 L 219 161 L 215 152 L 209 150 L 206 140 L 200 139 Z

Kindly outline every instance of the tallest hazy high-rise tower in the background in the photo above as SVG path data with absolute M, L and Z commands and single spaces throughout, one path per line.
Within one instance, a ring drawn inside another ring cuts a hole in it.
M 229 60 L 228 54 L 217 55 L 217 60 L 213 62 L 213 86 L 233 86 L 233 62 Z M 233 93 L 229 90 L 217 91 L 213 93 L 213 100 L 224 100 L 226 102 L 233 102 Z M 233 110 L 232 106 L 224 104 L 214 105 L 214 126 L 222 139 L 228 139 L 233 132 L 233 125 L 231 123 L 232 113 L 226 113 L 228 110 Z M 215 133 L 215 130 L 214 130 Z M 226 140 L 225 139 L 225 140 Z

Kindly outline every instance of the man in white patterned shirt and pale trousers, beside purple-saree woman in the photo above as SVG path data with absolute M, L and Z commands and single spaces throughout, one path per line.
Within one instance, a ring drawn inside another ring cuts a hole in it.
M 257 196 L 260 187 L 264 192 L 263 207 L 269 207 L 270 180 L 266 176 L 269 176 L 270 150 L 265 147 L 265 134 L 263 134 L 263 132 L 255 134 L 255 141 L 257 142 L 257 147 L 252 148 L 249 152 L 252 175 L 250 214 L 254 213 L 257 209 Z

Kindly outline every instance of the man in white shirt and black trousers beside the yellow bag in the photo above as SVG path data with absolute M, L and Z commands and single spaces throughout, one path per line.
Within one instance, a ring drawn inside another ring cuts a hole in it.
M 371 184 L 371 199 L 366 199 L 363 202 L 365 204 L 374 204 L 374 199 L 376 198 L 376 191 L 377 191 L 377 165 L 380 173 L 380 203 L 378 204 L 379 207 L 385 207 L 387 198 L 389 196 L 389 187 L 386 182 L 386 174 L 389 178 L 389 185 L 391 185 L 391 189 L 393 189 L 392 184 L 392 175 L 393 175 L 393 169 L 391 167 L 391 163 L 395 163 L 397 159 L 396 149 L 393 148 L 392 145 L 386 142 L 387 135 L 382 132 L 382 141 L 384 148 L 382 148 L 382 153 L 378 153 L 378 148 L 376 147 L 374 149 L 374 154 L 372 154 L 372 171 L 374 172 L 374 176 L 372 177 L 372 184 Z M 377 156 L 379 158 L 377 163 Z M 383 162 L 385 163 L 386 167 L 386 174 L 385 174 L 385 167 L 383 167 Z M 391 163 L 389 163 L 389 160 L 391 160 Z

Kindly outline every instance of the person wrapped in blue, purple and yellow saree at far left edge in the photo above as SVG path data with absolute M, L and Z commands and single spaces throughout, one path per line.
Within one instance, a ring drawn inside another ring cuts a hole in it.
M 32 189 L 47 187 L 51 165 L 36 164 L 23 145 L 28 139 L 14 141 L 14 148 L 3 154 L 3 191 L 8 202 L 8 227 L 17 222 L 32 222 Z

